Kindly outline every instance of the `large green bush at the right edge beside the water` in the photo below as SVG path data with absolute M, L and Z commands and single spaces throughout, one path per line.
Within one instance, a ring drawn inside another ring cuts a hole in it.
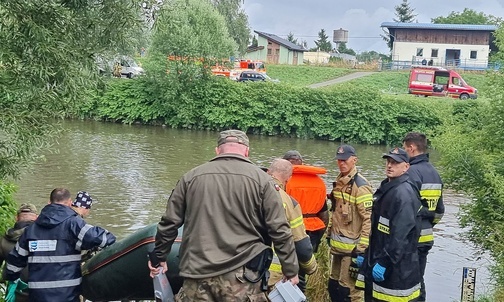
M 472 202 L 462 206 L 460 222 L 465 236 L 495 260 L 491 268 L 497 293 L 504 284 L 504 75 L 489 77 L 489 102 L 453 106 L 434 138 L 441 154 L 443 180 L 465 192 Z

